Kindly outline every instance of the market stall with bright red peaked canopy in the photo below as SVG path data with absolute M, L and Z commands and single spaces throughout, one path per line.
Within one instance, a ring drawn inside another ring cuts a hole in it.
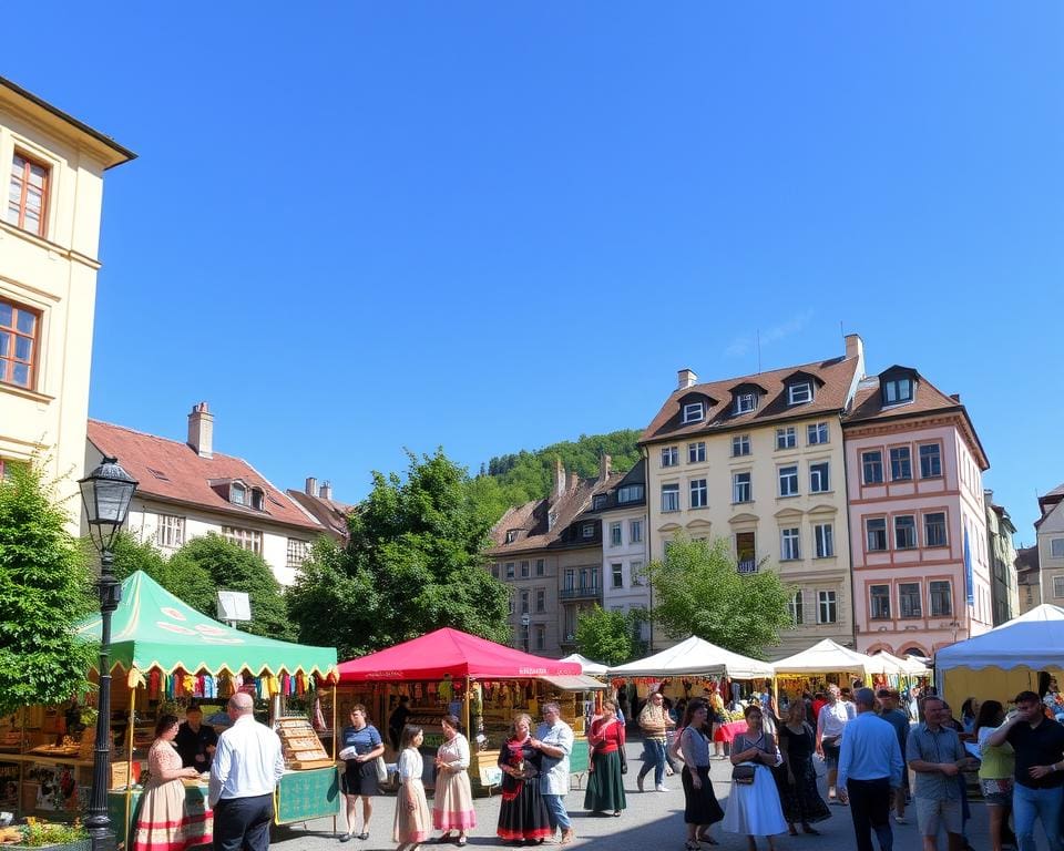
M 576 744 L 570 757 L 574 773 L 586 771 L 587 742 L 584 695 L 604 689 L 575 663 L 532 656 L 512 647 L 442 628 L 338 667 L 337 703 L 346 719 L 351 705 L 369 708 L 370 719 L 387 738 L 387 722 L 402 696 L 409 704 L 409 724 L 424 729 L 422 748 L 436 752 L 442 741 L 440 719 L 456 715 L 469 731 L 473 788 L 490 788 L 500 779 L 499 746 L 514 714 L 540 718 L 539 707 L 557 700 L 562 719 L 572 726 Z M 432 759 L 424 760 L 424 781 L 434 779 Z

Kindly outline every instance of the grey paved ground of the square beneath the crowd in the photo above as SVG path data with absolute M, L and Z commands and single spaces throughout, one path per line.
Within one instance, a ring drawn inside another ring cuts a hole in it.
M 566 798 L 566 807 L 573 820 L 576 839 L 566 849 L 610 849 L 610 851 L 656 851 L 671 849 L 683 851 L 684 848 L 684 792 L 679 785 L 679 777 L 666 778 L 667 792 L 638 792 L 635 786 L 635 776 L 638 772 L 640 753 L 642 746 L 630 742 L 627 747 L 628 773 L 625 776 L 625 791 L 627 793 L 627 809 L 621 818 L 610 816 L 593 816 L 584 810 L 584 793 L 582 789 L 573 789 Z M 727 760 L 712 762 L 714 790 L 722 806 L 727 807 L 727 796 L 730 786 L 732 767 Z M 649 790 L 653 788 L 653 775 L 647 777 Z M 821 779 L 821 785 L 823 780 Z M 821 789 L 821 793 L 825 790 Z M 365 842 L 351 840 L 340 844 L 334 833 L 331 819 L 318 819 L 305 823 L 284 826 L 274 829 L 272 848 L 282 851 L 391 851 L 396 843 L 391 841 L 391 824 L 395 817 L 395 796 L 383 796 L 376 799 L 374 817 L 370 822 L 370 838 Z M 509 848 L 495 837 L 495 823 L 499 818 L 499 796 L 477 799 L 478 827 L 470 832 L 470 851 L 482 848 Z M 431 800 L 429 802 L 431 807 Z M 819 837 L 798 835 L 776 837 L 776 848 L 779 851 L 851 851 L 853 843 L 853 824 L 849 809 L 831 807 L 833 818 L 818 823 Z M 907 824 L 892 824 L 894 831 L 896 851 L 920 851 L 921 841 L 917 831 L 915 810 L 907 812 Z M 338 832 L 344 832 L 342 818 L 337 820 Z M 981 801 L 972 801 L 972 819 L 968 823 L 969 842 L 978 851 L 989 851 L 986 809 Z M 720 827 L 714 827 L 713 835 L 719 841 L 722 851 L 746 851 L 746 838 L 732 833 L 723 833 Z M 768 844 L 765 839 L 758 839 L 758 848 L 765 849 Z M 431 845 L 427 844 L 423 851 Z M 442 845 L 451 848 L 454 845 Z M 544 847 L 545 848 L 545 847 Z M 710 845 L 703 845 L 707 851 Z M 939 848 L 947 851 L 944 834 L 940 838 Z M 1039 848 L 1046 849 L 1045 838 L 1039 839 Z

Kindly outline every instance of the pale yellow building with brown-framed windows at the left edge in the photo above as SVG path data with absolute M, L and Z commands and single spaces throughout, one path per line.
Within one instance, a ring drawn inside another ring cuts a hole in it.
M 103 173 L 134 156 L 0 78 L 0 475 L 35 458 L 60 498 L 85 459 Z

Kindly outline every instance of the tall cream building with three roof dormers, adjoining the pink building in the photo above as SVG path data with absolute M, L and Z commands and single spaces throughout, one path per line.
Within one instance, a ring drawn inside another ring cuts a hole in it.
M 648 554 L 677 534 L 723 536 L 740 572 L 794 588 L 794 627 L 773 655 L 821 638 L 852 645 L 841 418 L 864 369 L 861 338 L 815 363 L 678 386 L 641 438 Z

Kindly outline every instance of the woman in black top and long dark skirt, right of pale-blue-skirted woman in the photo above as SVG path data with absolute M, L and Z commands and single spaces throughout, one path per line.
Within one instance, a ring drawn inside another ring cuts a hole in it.
M 817 769 L 812 761 L 817 735 L 806 720 L 802 700 L 790 701 L 777 730 L 784 761 L 774 773 L 787 830 L 790 835 L 798 835 L 795 822 L 799 822 L 802 832 L 817 835 L 820 831 L 812 827 L 814 822 L 830 818 L 831 810 L 817 789 Z

